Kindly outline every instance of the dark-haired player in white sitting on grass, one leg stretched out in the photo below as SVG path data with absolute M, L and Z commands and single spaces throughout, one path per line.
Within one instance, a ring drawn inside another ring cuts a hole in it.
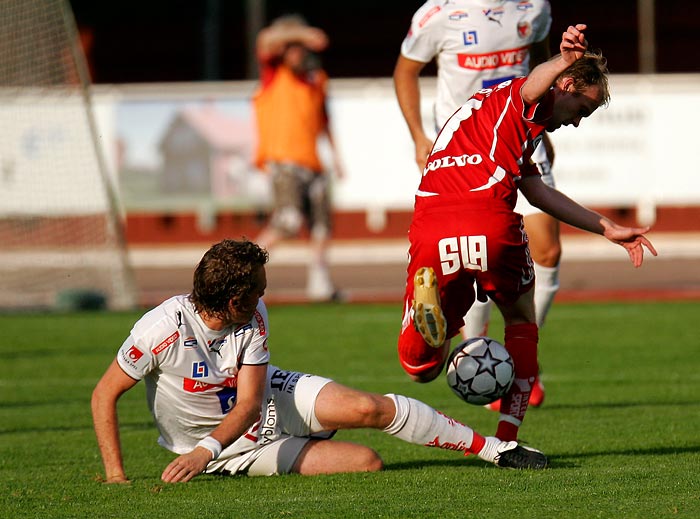
M 269 365 L 262 295 L 268 254 L 224 240 L 197 265 L 191 294 L 146 313 L 92 395 L 106 482 L 123 483 L 117 402 L 141 379 L 160 437 L 179 454 L 166 482 L 207 473 L 273 475 L 375 471 L 369 447 L 331 441 L 337 429 L 375 428 L 402 440 L 478 455 L 501 467 L 541 469 L 547 458 L 515 441 L 483 437 L 426 404 L 358 391 Z

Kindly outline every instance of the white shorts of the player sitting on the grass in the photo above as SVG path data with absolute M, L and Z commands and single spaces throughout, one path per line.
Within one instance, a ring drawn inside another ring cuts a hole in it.
M 328 378 L 270 366 L 260 440 L 252 450 L 243 453 L 236 443 L 229 445 L 209 463 L 206 472 L 249 476 L 290 473 L 309 440 L 335 434 L 323 431 L 314 413 L 316 397 L 329 382 Z

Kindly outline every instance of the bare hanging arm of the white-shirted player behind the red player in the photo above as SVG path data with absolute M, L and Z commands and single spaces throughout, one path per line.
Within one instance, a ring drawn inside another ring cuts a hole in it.
M 419 77 L 425 63 L 399 56 L 394 67 L 394 89 L 408 131 L 415 145 L 415 161 L 418 169 L 423 171 L 425 161 L 433 147 L 432 139 L 428 138 L 423 128 L 423 118 L 420 110 Z

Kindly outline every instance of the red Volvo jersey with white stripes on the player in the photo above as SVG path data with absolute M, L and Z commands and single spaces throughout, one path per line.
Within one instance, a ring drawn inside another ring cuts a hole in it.
M 525 77 L 479 90 L 457 110 L 435 140 L 416 193 L 433 205 L 475 197 L 503 200 L 512 209 L 517 181 L 539 175 L 530 157 L 542 139 L 553 106 L 552 91 L 525 106 Z

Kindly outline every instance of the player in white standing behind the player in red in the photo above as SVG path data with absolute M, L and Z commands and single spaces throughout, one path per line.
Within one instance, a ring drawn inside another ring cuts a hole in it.
M 394 70 L 394 84 L 401 111 L 415 144 L 415 160 L 423 171 L 433 145 L 420 109 L 419 75 L 437 61 L 435 132 L 477 90 L 525 76 L 549 59 L 550 5 L 547 0 L 428 0 L 413 15 Z M 544 137 L 532 156 L 542 180 L 554 187 L 551 162 L 554 153 Z M 559 222 L 518 197 L 515 211 L 525 217 L 530 252 L 535 261 L 535 308 L 542 327 L 559 289 Z M 491 302 L 475 302 L 465 317 L 464 338 L 486 335 Z M 536 381 L 530 405 L 544 399 Z M 492 407 L 498 409 L 498 403 Z

